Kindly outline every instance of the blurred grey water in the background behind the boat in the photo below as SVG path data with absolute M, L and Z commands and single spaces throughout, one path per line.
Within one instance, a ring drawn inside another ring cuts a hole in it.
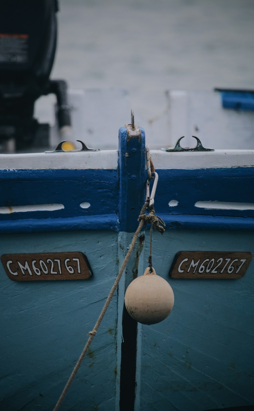
M 158 91 L 254 88 L 253 0 L 59 4 L 52 77 L 71 88 L 124 88 L 148 116 Z

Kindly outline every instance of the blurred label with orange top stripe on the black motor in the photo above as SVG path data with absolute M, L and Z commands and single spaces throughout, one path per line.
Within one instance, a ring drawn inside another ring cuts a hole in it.
M 28 39 L 27 34 L 0 33 L 0 63 L 27 63 Z

